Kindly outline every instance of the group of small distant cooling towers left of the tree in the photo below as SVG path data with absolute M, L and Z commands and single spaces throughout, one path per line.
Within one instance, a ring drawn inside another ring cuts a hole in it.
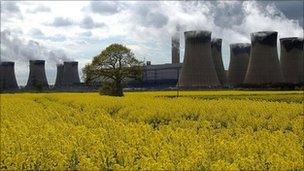
M 29 61 L 29 77 L 24 89 L 26 90 L 47 90 L 50 89 L 46 74 L 44 60 Z M 1 90 L 19 89 L 15 77 L 14 62 L 2 62 L 0 65 Z M 78 74 L 78 62 L 69 61 L 57 65 L 56 82 L 53 89 L 70 89 L 81 86 Z

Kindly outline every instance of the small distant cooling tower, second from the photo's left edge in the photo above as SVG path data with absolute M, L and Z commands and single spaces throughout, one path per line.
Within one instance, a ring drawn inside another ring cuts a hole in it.
M 48 88 L 48 82 L 45 75 L 44 60 L 30 60 L 30 74 L 26 84 L 28 89 Z

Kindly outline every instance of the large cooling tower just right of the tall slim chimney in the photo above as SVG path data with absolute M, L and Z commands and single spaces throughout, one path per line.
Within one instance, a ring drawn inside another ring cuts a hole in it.
M 187 31 L 185 57 L 178 86 L 197 88 L 219 86 L 220 82 L 211 58 L 211 32 Z

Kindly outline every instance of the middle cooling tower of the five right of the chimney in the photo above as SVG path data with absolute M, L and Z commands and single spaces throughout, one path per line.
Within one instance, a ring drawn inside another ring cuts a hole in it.
M 240 85 L 244 82 L 250 57 L 249 43 L 230 44 L 228 84 Z

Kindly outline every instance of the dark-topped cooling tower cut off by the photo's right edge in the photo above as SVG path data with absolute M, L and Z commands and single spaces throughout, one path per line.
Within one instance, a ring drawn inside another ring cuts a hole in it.
M 289 37 L 280 39 L 281 69 L 286 83 L 304 82 L 303 39 Z

